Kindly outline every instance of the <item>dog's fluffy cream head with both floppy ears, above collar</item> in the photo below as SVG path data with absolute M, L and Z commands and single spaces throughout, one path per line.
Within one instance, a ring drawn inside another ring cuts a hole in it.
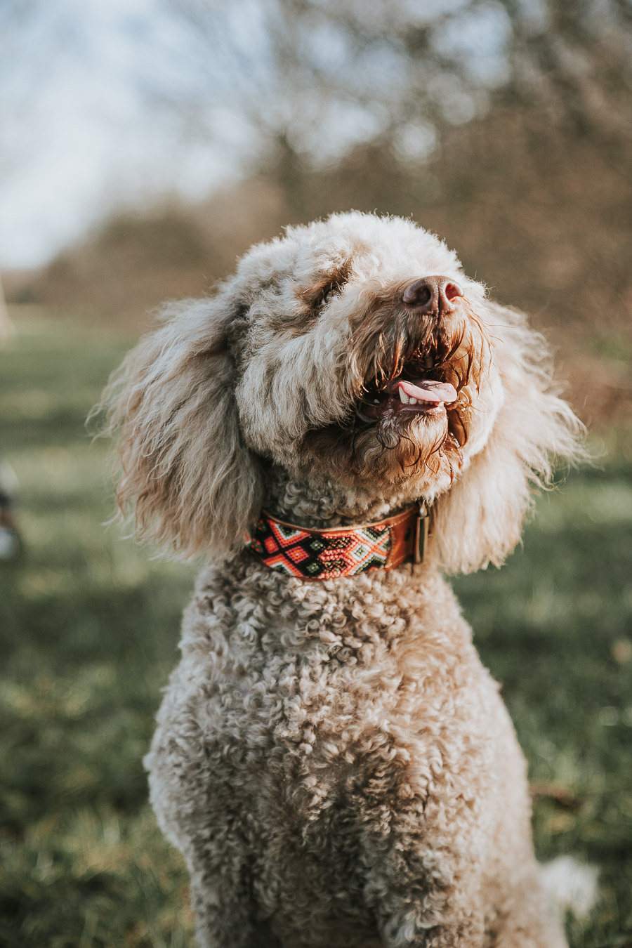
M 530 485 L 576 449 L 542 337 L 409 221 L 289 228 L 166 315 L 105 400 L 119 502 L 184 555 L 243 544 L 272 463 L 367 508 L 423 498 L 431 555 L 471 570 L 513 549 Z

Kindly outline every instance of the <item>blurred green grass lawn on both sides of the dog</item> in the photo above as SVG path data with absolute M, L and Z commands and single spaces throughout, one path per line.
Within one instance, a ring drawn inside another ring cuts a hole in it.
M 192 944 L 187 877 L 156 829 L 141 758 L 177 661 L 190 569 L 116 528 L 107 446 L 83 419 L 125 340 L 26 314 L 0 356 L 0 446 L 25 555 L 0 567 L 0 944 Z M 600 866 L 573 948 L 632 944 L 632 452 L 539 502 L 500 572 L 455 586 L 502 683 L 533 781 L 538 855 Z

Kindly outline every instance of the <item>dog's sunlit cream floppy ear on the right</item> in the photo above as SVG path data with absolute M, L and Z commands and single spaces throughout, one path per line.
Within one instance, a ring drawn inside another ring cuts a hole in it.
M 551 392 L 546 340 L 514 310 L 489 304 L 503 402 L 485 447 L 433 510 L 433 551 L 448 573 L 499 566 L 520 538 L 556 461 L 586 456 L 584 426 Z

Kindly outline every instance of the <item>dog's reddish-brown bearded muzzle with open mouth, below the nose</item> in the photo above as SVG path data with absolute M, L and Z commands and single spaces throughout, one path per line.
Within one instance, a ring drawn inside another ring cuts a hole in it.
M 308 433 L 313 463 L 326 460 L 332 473 L 355 482 L 442 472 L 451 479 L 489 362 L 489 339 L 467 304 L 442 320 L 376 310 L 350 342 L 349 416 Z M 419 394 L 417 404 L 402 392 Z

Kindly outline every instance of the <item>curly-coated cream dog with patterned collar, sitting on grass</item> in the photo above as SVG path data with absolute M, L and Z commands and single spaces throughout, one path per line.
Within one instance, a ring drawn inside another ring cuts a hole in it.
M 138 536 L 210 562 L 146 761 L 200 945 L 563 946 L 442 578 L 499 564 L 576 451 L 543 338 L 436 237 L 355 212 L 167 316 L 106 402 Z

